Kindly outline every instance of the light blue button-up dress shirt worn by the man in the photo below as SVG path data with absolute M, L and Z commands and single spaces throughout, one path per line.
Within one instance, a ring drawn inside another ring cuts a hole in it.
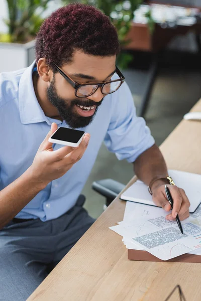
M 32 81 L 34 65 L 35 62 L 26 69 L 0 75 L 0 190 L 31 166 L 52 122 L 68 127 L 65 121 L 45 116 L 40 107 Z M 134 162 L 154 144 L 144 119 L 136 116 L 126 83 L 105 97 L 93 121 L 82 130 L 91 135 L 82 159 L 64 176 L 49 183 L 16 217 L 47 221 L 72 208 L 103 141 L 119 160 L 128 162 Z M 59 147 L 62 146 L 54 145 L 54 149 Z

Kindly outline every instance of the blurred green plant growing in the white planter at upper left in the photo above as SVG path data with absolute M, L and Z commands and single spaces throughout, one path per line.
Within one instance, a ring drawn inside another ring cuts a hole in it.
M 7 34 L 0 34 L 1 42 L 25 43 L 36 36 L 51 0 L 7 0 L 9 19 Z

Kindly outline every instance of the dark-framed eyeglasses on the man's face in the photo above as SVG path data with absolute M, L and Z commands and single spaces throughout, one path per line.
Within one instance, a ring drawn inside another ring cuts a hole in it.
M 116 66 L 116 73 L 120 77 L 116 80 L 107 81 L 104 83 L 95 84 L 78 84 L 74 82 L 60 67 L 54 64 L 58 72 L 65 78 L 65 80 L 75 89 L 76 97 L 87 97 L 95 93 L 100 87 L 102 94 L 107 95 L 114 93 L 125 82 L 125 77 Z

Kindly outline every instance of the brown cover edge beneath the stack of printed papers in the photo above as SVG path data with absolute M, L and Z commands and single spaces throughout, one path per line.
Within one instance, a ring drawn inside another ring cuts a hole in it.
M 161 261 L 161 262 L 201 262 L 201 255 L 183 254 L 169 260 L 161 260 L 147 251 L 128 249 L 128 259 L 139 261 Z

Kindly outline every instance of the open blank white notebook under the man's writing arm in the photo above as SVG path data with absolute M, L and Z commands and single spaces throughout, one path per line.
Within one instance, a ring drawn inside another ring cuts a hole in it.
M 172 177 L 176 186 L 185 190 L 190 201 L 189 212 L 193 213 L 201 203 L 201 175 L 175 170 L 168 170 L 168 175 Z M 140 180 L 123 192 L 121 200 L 156 206 L 147 186 Z

